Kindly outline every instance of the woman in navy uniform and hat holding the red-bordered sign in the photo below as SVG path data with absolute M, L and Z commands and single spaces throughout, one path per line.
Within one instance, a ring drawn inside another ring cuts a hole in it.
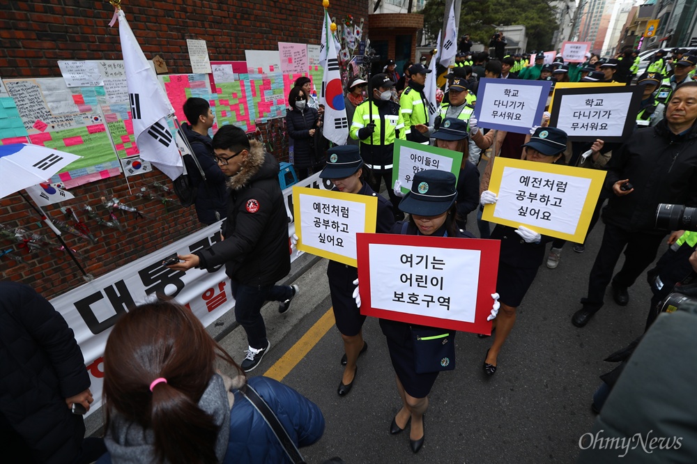
M 411 184 L 411 192 L 408 192 L 399 203 L 399 209 L 408 212 L 409 219 L 397 222 L 390 232 L 431 237 L 475 238 L 471 233 L 460 229 L 455 222 L 456 197 L 453 173 L 436 170 L 416 173 Z M 491 311 L 490 320 L 496 317 L 498 312 L 496 300 L 494 307 L 496 309 Z M 403 403 L 395 418 L 392 419 L 390 433 L 394 435 L 404 431 L 411 421 L 409 444 L 411 450 L 417 453 L 426 438 L 424 412 L 428 408 L 428 394 L 436 382 L 438 371 L 416 372 L 411 330 L 412 327 L 421 326 L 381 319 L 380 327 L 387 337 L 390 359 L 397 374 L 397 390 Z M 444 331 L 447 332 L 447 330 Z M 454 331 L 450 333 L 454 335 Z

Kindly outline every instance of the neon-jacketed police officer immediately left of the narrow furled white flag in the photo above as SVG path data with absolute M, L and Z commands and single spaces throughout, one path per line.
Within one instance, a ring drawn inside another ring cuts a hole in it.
M 404 89 L 404 92 L 399 98 L 399 108 L 401 117 L 404 119 L 404 132 L 406 139 L 418 142 L 420 144 L 428 144 L 428 134 L 422 134 L 415 129 L 415 125 L 429 123 L 429 104 L 436 105 L 436 102 L 429 102 L 424 95 L 424 84 L 426 84 L 426 75 L 431 70 L 424 68 L 422 64 L 415 64 L 409 68 L 411 80 L 409 86 Z M 435 108 L 434 108 L 435 109 Z

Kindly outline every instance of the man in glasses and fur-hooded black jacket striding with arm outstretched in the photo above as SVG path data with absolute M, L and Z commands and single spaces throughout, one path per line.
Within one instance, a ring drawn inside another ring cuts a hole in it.
M 235 317 L 247 332 L 249 349 L 242 362 L 245 372 L 259 365 L 270 347 L 261 307 L 279 301 L 279 312 L 288 310 L 298 286 L 275 283 L 291 270 L 288 216 L 278 181 L 275 158 L 261 144 L 250 142 L 245 132 L 224 125 L 213 137 L 213 150 L 220 169 L 229 176 L 227 219 L 223 239 L 212 247 L 179 256 L 176 270 L 210 269 L 224 264 L 235 297 Z

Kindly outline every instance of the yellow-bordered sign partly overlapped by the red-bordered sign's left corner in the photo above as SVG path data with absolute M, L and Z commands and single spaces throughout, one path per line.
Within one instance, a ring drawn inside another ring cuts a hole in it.
M 293 187 L 298 249 L 355 268 L 355 234 L 375 233 L 377 211 L 375 196 Z

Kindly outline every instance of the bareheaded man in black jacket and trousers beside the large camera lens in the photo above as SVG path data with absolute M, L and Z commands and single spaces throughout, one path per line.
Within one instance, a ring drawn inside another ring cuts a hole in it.
M 584 327 L 604 304 L 612 281 L 613 299 L 629 302 L 629 288 L 650 265 L 666 229 L 656 229 L 659 203 L 697 206 L 697 82 L 678 87 L 666 115 L 654 127 L 634 132 L 608 164 L 606 188 L 613 192 L 603 212 L 605 232 L 572 323 Z M 622 250 L 622 270 L 613 271 Z

